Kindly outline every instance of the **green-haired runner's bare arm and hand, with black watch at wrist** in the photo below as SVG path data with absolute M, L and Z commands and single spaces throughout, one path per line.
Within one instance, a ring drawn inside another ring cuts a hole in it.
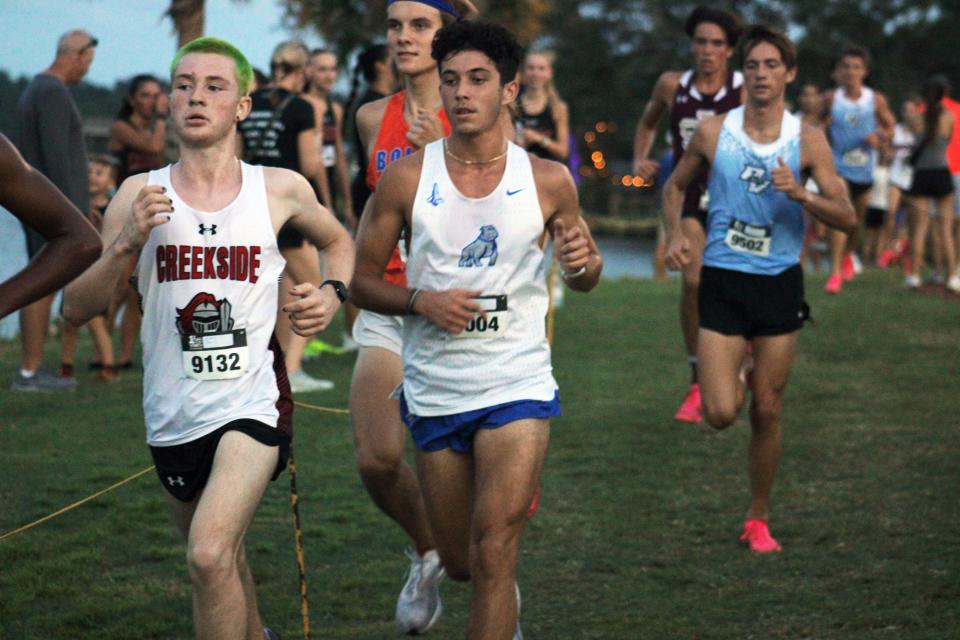
M 264 179 L 274 228 L 289 222 L 323 252 L 323 279 L 349 284 L 353 272 L 353 241 L 333 214 L 317 202 L 306 179 L 294 171 L 276 168 L 264 168 Z M 312 336 L 326 329 L 340 308 L 337 292 L 329 285 L 321 287 L 319 282 L 304 282 L 291 287 L 290 292 L 299 300 L 285 305 L 283 311 L 290 314 L 293 330 L 301 336 Z

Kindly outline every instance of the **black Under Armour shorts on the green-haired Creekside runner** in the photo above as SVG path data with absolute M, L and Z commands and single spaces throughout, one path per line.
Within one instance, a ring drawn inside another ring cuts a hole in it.
M 290 457 L 290 437 L 287 434 L 257 420 L 234 420 L 191 442 L 172 447 L 150 447 L 157 476 L 170 495 L 180 502 L 190 502 L 200 494 L 210 478 L 220 438 L 228 431 L 239 431 L 260 444 L 278 447 L 277 466 L 271 481 L 286 468 Z

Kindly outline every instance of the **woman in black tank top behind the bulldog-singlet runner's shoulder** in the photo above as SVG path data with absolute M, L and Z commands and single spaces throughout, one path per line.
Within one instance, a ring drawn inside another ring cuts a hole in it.
M 570 156 L 570 109 L 553 85 L 553 54 L 531 51 L 523 61 L 517 98 L 517 144 L 530 153 L 566 164 Z

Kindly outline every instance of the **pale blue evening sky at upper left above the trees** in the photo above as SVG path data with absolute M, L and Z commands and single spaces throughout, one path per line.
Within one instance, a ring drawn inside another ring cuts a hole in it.
M 267 70 L 281 40 L 298 37 L 307 46 L 323 43 L 315 33 L 282 27 L 278 0 L 207 0 L 206 34 L 237 45 L 255 66 Z M 86 29 L 100 40 L 86 77 L 113 86 L 138 73 L 168 74 L 177 41 L 163 18 L 169 0 L 0 0 L 3 52 L 0 69 L 13 77 L 31 76 L 53 61 L 57 38 Z

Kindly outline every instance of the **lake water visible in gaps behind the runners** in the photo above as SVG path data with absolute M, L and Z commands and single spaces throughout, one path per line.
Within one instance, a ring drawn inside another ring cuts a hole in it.
M 605 278 L 653 277 L 653 240 L 636 238 L 598 238 L 603 254 Z M 0 207 L 0 282 L 17 273 L 27 264 L 23 229 L 11 213 Z M 0 339 L 17 334 L 17 314 L 0 320 Z

